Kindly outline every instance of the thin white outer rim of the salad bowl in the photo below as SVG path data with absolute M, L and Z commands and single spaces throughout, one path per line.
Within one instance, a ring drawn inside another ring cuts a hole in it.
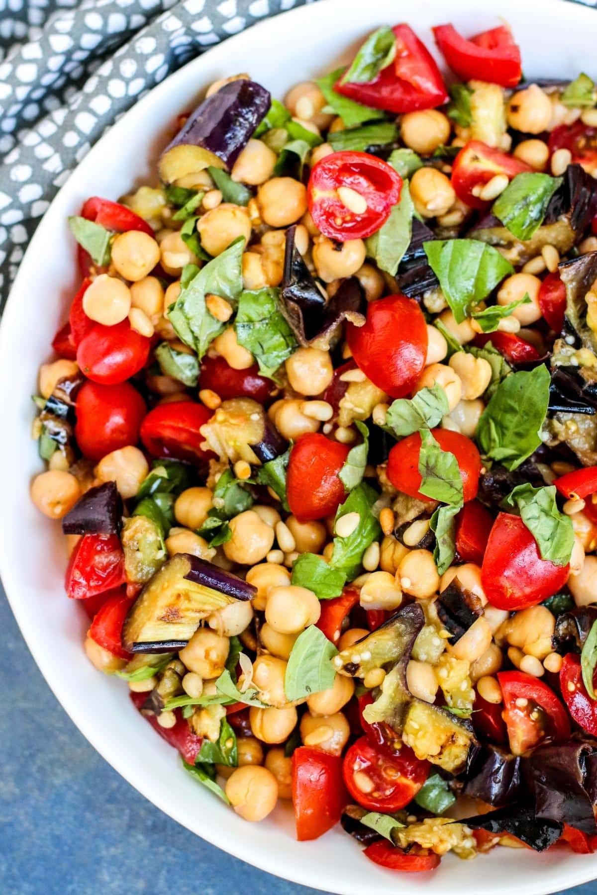
M 223 55 L 224 53 L 233 55 L 235 46 L 243 40 L 247 31 L 251 30 L 252 32 L 255 32 L 255 30 L 259 30 L 260 32 L 267 32 L 269 29 L 276 30 L 279 27 L 279 20 L 287 22 L 292 28 L 294 22 L 314 18 L 322 7 L 337 7 L 338 14 L 340 14 L 345 13 L 346 4 L 351 3 L 357 4 L 359 3 L 359 0 L 317 0 L 317 4 L 313 3 L 312 0 L 311 2 L 310 0 L 307 0 L 306 4 L 302 6 L 294 7 L 285 12 L 269 16 L 269 18 L 256 21 L 240 33 L 222 40 L 219 44 L 214 45 L 213 47 L 204 49 L 200 55 L 194 56 L 180 69 L 170 73 L 163 81 L 160 81 L 155 87 L 149 90 L 141 100 L 133 103 L 115 124 L 108 126 L 107 130 L 91 147 L 85 157 L 72 169 L 72 173 L 78 170 L 82 165 L 91 166 L 95 160 L 100 160 L 104 154 L 105 147 L 109 146 L 119 134 L 125 135 L 128 119 L 132 114 L 133 109 L 137 110 L 137 114 L 145 108 L 149 109 L 157 96 L 162 96 L 174 85 L 179 83 L 183 84 L 187 81 L 192 69 L 200 66 L 201 61 L 204 60 L 206 56 L 214 57 L 218 54 Z M 514 3 L 515 0 L 507 0 L 506 5 L 514 5 Z M 431 4 L 435 6 L 435 0 L 431 0 Z M 463 5 L 464 4 L 470 5 L 472 10 L 475 7 L 473 0 L 463 0 Z M 563 0 L 525 0 L 524 3 L 525 9 L 528 11 L 529 15 L 532 15 L 533 13 L 545 13 L 546 10 L 554 13 L 556 9 L 561 10 L 562 4 Z M 493 10 L 488 10 L 487 12 L 492 13 Z M 498 13 L 496 13 L 496 17 L 497 15 Z M 595 20 L 593 17 L 597 16 L 597 11 L 591 6 L 586 6 L 577 3 L 576 0 L 572 0 L 571 3 L 567 3 L 567 16 L 571 16 L 575 20 L 575 25 L 578 28 L 581 28 L 584 22 L 586 22 L 587 26 L 593 26 L 594 28 Z M 413 19 L 416 19 L 415 14 L 413 15 Z M 416 30 L 416 21 L 413 21 L 413 25 Z M 69 181 L 70 176 L 60 190 L 56 192 L 47 211 L 40 219 L 38 227 L 36 228 L 23 259 L 21 260 L 17 276 L 13 281 L 13 286 L 11 287 L 8 300 L 4 307 L 2 320 L 0 320 L 0 371 L 2 371 L 3 366 L 2 358 L 6 354 L 5 349 L 13 335 L 13 320 L 16 320 L 17 293 L 21 289 L 21 282 L 26 279 L 28 268 L 31 264 L 35 264 L 37 253 L 43 245 L 44 227 L 42 226 L 42 222 L 45 217 L 47 217 L 47 213 L 52 209 L 54 204 L 60 200 L 64 193 L 69 192 Z M 284 878 L 290 882 L 311 886 L 313 889 L 328 891 L 326 883 L 329 883 L 329 880 L 325 878 L 321 879 L 320 876 L 318 877 L 317 866 L 311 865 L 311 862 L 309 861 L 300 862 L 294 865 L 281 864 L 280 861 L 276 859 L 275 849 L 263 848 L 258 854 L 255 854 L 254 851 L 252 851 L 251 845 L 244 843 L 243 840 L 234 840 L 230 838 L 229 840 L 222 841 L 221 839 L 218 839 L 217 833 L 211 830 L 209 823 L 204 823 L 200 833 L 198 833 L 191 823 L 189 823 L 187 817 L 183 816 L 183 813 L 179 811 L 175 805 L 169 804 L 166 796 L 162 796 L 152 788 L 149 775 L 144 775 L 142 772 L 141 763 L 139 768 L 135 767 L 134 763 L 131 764 L 126 761 L 118 750 L 114 748 L 114 737 L 110 734 L 110 731 L 99 731 L 97 726 L 94 726 L 85 715 L 78 711 L 76 704 L 74 704 L 75 701 L 71 698 L 67 681 L 63 680 L 59 674 L 55 673 L 55 666 L 53 665 L 49 654 L 38 652 L 33 645 L 34 638 L 32 636 L 32 631 L 34 620 L 28 618 L 25 605 L 20 601 L 18 569 L 13 565 L 11 557 L 4 547 L 5 539 L 2 537 L 2 532 L 4 526 L 7 526 L 8 524 L 10 523 L 7 520 L 7 516 L 5 514 L 0 515 L 0 576 L 4 584 L 7 601 L 13 611 L 17 624 L 19 625 L 21 635 L 29 647 L 31 655 L 38 665 L 41 674 L 45 678 L 47 685 L 72 720 L 73 724 L 81 731 L 82 735 L 89 741 L 90 745 L 98 751 L 98 753 L 115 769 L 115 771 L 117 771 L 118 774 L 120 774 L 121 777 L 124 778 L 124 780 L 136 788 L 142 796 L 147 798 L 152 805 L 156 805 L 161 811 L 173 818 L 177 823 L 180 823 L 186 829 L 194 832 L 196 835 L 200 835 L 200 838 L 207 840 L 210 844 L 220 848 L 222 851 L 227 852 L 233 857 L 240 858 L 248 864 L 258 867 L 260 870 L 266 871 L 269 874 Z M 578 865 L 577 868 L 576 864 Z M 536 866 L 539 868 L 539 865 Z M 526 895 L 550 895 L 551 892 L 561 890 L 563 886 L 568 888 L 593 880 L 597 876 L 597 855 L 592 861 L 589 861 L 587 858 L 586 863 L 581 861 L 575 862 L 573 867 L 574 869 L 571 869 L 569 863 L 565 865 L 565 868 L 564 866 L 560 868 L 559 865 L 550 864 L 550 879 L 541 879 L 542 874 L 539 872 L 536 881 L 533 881 L 530 885 L 525 883 Z M 426 876 L 426 874 L 424 875 Z M 395 876 L 393 878 L 396 879 Z M 408 882 L 405 881 L 403 883 L 402 881 L 404 880 L 404 876 L 401 877 L 400 884 L 402 885 L 403 891 L 415 891 L 414 888 L 411 889 Z M 463 882 L 465 882 L 464 876 Z M 354 886 L 349 880 L 342 881 L 340 885 L 341 888 L 335 889 L 334 891 L 341 891 L 345 893 L 345 895 L 362 895 L 362 890 Z M 418 891 L 418 887 L 416 891 Z M 495 893 L 498 893 L 499 891 L 503 891 L 503 888 L 490 882 L 490 888 L 485 890 L 484 895 L 495 895 Z

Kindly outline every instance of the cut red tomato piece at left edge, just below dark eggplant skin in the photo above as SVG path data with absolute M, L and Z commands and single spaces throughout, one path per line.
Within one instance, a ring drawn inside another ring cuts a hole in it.
M 85 600 L 124 584 L 124 553 L 117 534 L 84 534 L 72 550 L 64 587 L 72 600 Z

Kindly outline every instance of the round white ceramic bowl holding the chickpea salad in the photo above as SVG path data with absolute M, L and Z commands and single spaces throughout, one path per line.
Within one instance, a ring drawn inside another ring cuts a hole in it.
M 497 848 L 472 862 L 447 857 L 430 877 L 397 876 L 372 865 L 339 829 L 325 839 L 294 840 L 293 818 L 278 807 L 265 823 L 245 823 L 183 771 L 173 750 L 132 708 L 124 683 L 99 674 L 81 643 L 89 624 L 64 597 L 66 555 L 60 526 L 32 507 L 30 477 L 40 463 L 30 439 L 38 365 L 47 360 L 50 339 L 64 320 L 76 286 L 72 237 L 66 217 L 77 214 L 89 195 L 115 199 L 149 173 L 176 113 L 192 107 L 210 81 L 251 72 L 278 98 L 296 81 L 327 72 L 345 61 L 350 47 L 380 24 L 405 19 L 427 46 L 430 26 L 452 21 L 465 34 L 507 18 L 522 47 L 528 76 L 595 73 L 597 13 L 554 0 L 501 0 L 496 12 L 477 0 L 417 0 L 401 8 L 395 0 L 325 0 L 303 6 L 250 30 L 195 59 L 135 104 L 91 149 L 58 193 L 38 226 L 21 264 L 0 330 L 4 470 L 0 515 L 0 572 L 22 634 L 56 697 L 81 732 L 154 805 L 235 857 L 272 874 L 315 888 L 362 895 L 423 889 L 442 895 L 473 891 L 547 893 L 597 876 L 597 856 L 535 855 Z M 98 826 L 102 818 L 96 819 Z M 226 867 L 226 859 L 223 866 Z

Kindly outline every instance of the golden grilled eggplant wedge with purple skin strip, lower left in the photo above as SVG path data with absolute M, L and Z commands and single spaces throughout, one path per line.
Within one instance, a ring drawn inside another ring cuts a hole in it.
M 128 652 L 172 652 L 191 640 L 203 618 L 256 590 L 190 553 L 178 553 L 153 575 L 124 620 Z

